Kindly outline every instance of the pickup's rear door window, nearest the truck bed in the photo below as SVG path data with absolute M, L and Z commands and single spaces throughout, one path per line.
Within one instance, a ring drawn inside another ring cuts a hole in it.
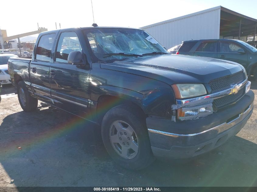
M 42 35 L 40 37 L 39 43 L 36 47 L 36 58 L 37 60 L 41 61 L 50 61 L 50 55 L 51 55 L 51 50 L 53 47 L 54 43 L 54 36 L 55 34 L 47 34 L 47 35 Z

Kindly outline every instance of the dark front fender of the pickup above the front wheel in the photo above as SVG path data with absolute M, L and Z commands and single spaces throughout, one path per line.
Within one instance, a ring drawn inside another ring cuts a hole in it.
M 101 69 L 95 64 L 90 74 L 90 90 L 92 107 L 99 97 L 109 95 L 135 103 L 148 116 L 170 117 L 171 106 L 175 104 L 170 85 L 131 73 Z

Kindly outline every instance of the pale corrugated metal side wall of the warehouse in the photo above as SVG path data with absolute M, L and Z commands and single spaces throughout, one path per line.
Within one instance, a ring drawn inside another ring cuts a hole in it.
M 148 25 L 141 29 L 152 35 L 166 49 L 192 39 L 219 39 L 221 9 L 205 11 Z

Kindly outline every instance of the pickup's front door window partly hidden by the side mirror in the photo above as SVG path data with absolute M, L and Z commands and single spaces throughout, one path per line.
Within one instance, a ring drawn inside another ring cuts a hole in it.
M 62 32 L 58 40 L 55 61 L 68 63 L 68 56 L 72 51 L 82 51 L 78 35 L 75 32 Z

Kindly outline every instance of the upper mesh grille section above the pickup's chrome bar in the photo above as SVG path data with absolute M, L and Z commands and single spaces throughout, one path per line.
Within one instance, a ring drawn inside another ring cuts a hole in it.
M 244 73 L 242 71 L 234 73 L 229 76 L 221 77 L 219 79 L 214 79 L 209 82 L 210 88 L 212 92 L 229 88 L 232 84 L 237 84 L 243 81 L 245 78 Z

